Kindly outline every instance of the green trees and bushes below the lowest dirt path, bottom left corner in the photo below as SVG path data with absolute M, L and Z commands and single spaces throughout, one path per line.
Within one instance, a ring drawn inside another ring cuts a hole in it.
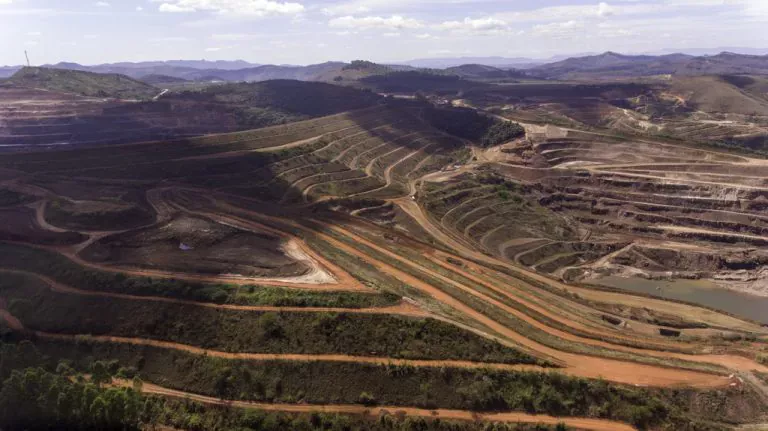
M 141 394 L 135 369 L 116 361 L 94 361 L 85 379 L 72 362 L 45 360 L 28 342 L 3 344 L 6 367 L 0 370 L 0 426 L 8 429 L 147 429 L 166 425 L 190 431 L 339 430 L 480 431 L 486 424 L 383 415 L 375 420 L 337 414 L 267 413 L 255 409 L 208 406 Z M 35 365 L 37 367 L 27 367 Z M 40 368 L 44 366 L 46 368 Z M 54 371 L 55 369 L 55 371 Z M 117 377 L 133 378 L 131 388 L 106 387 Z M 545 431 L 537 425 L 494 425 L 496 431 Z M 564 429 L 562 426 L 558 430 Z

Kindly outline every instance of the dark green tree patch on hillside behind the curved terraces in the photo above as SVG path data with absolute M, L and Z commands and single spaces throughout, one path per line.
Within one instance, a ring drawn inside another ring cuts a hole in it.
M 435 108 L 425 110 L 424 117 L 433 126 L 483 147 L 509 142 L 525 135 L 517 123 L 480 114 L 471 108 Z

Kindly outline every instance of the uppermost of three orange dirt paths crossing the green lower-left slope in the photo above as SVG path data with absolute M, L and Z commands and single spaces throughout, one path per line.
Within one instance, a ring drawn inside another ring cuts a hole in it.
M 206 308 L 214 308 L 214 309 L 220 309 L 220 310 L 237 310 L 237 311 L 274 311 L 274 312 L 292 312 L 292 313 L 302 313 L 302 312 L 323 313 L 325 312 L 325 313 L 353 313 L 353 314 L 396 314 L 401 316 L 413 316 L 413 317 L 429 316 L 429 313 L 427 313 L 426 311 L 420 309 L 414 304 L 411 304 L 405 301 L 390 307 L 380 307 L 380 308 L 276 307 L 276 306 L 267 306 L 267 305 L 216 304 L 211 302 L 198 302 L 198 301 L 189 301 L 184 299 L 166 298 L 162 296 L 140 296 L 140 295 L 129 295 L 125 293 L 110 293 L 110 292 L 99 292 L 99 291 L 93 291 L 93 290 L 78 289 L 75 287 L 71 287 L 71 286 L 67 286 L 65 284 L 59 283 L 50 277 L 46 277 L 44 275 L 36 274 L 33 272 L 27 272 L 27 271 L 7 270 L 4 268 L 0 268 L 0 274 L 2 273 L 20 274 L 20 275 L 25 275 L 30 277 L 36 277 L 42 280 L 43 282 L 45 282 L 54 292 L 73 294 L 73 295 L 82 295 L 82 296 L 94 296 L 94 297 L 100 297 L 100 298 L 116 298 L 116 299 L 127 299 L 132 301 L 162 302 L 166 304 L 189 305 L 189 306 L 195 306 L 195 307 L 206 307 Z

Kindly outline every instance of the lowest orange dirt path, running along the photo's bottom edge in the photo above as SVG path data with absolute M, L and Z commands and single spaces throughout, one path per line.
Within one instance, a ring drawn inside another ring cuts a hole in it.
M 120 387 L 132 387 L 133 382 L 128 380 L 113 380 L 113 385 Z M 412 407 L 399 407 L 399 406 L 380 406 L 380 407 L 367 407 L 361 405 L 310 405 L 310 404 L 266 404 L 249 401 L 230 401 L 221 400 L 205 395 L 199 395 L 189 392 L 177 391 L 174 389 L 164 388 L 162 386 L 153 385 L 151 383 L 143 383 L 142 392 L 145 394 L 161 395 L 165 397 L 189 399 L 192 401 L 200 402 L 203 404 L 211 404 L 217 406 L 231 406 L 238 408 L 257 409 L 264 411 L 279 411 L 287 413 L 339 413 L 349 415 L 360 415 L 370 417 L 372 419 L 378 418 L 383 414 L 394 414 L 396 412 L 403 412 L 408 416 L 423 417 L 428 419 L 448 419 L 448 420 L 460 420 L 460 421 L 493 421 L 493 422 L 524 422 L 524 423 L 536 423 L 546 425 L 557 425 L 564 423 L 570 428 L 585 429 L 592 431 L 633 431 L 635 428 L 622 423 L 601 419 L 589 419 L 589 418 L 574 418 L 574 417 L 553 417 L 547 415 L 529 415 L 525 413 L 477 413 L 467 410 L 425 410 Z

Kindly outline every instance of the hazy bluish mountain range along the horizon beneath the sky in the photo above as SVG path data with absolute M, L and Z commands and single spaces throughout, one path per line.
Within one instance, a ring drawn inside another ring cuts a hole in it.
M 295 79 L 300 81 L 357 81 L 372 75 L 418 71 L 453 75 L 467 79 L 509 80 L 605 80 L 659 75 L 768 75 L 768 55 L 721 52 L 710 56 L 672 53 L 665 55 L 625 55 L 605 52 L 571 58 L 552 59 L 547 63 L 531 63 L 526 58 L 464 57 L 423 59 L 406 64 L 381 65 L 368 61 L 326 62 L 309 66 L 256 65 L 236 61 L 153 61 L 84 66 L 57 63 L 46 67 L 96 73 L 117 73 L 153 85 L 184 81 L 267 81 Z M 540 60 L 539 60 L 540 61 Z M 456 64 L 458 63 L 458 64 Z M 426 70 L 426 68 L 430 70 Z M 0 67 L 0 78 L 13 75 L 20 67 Z M 441 69 L 435 72 L 435 69 Z

